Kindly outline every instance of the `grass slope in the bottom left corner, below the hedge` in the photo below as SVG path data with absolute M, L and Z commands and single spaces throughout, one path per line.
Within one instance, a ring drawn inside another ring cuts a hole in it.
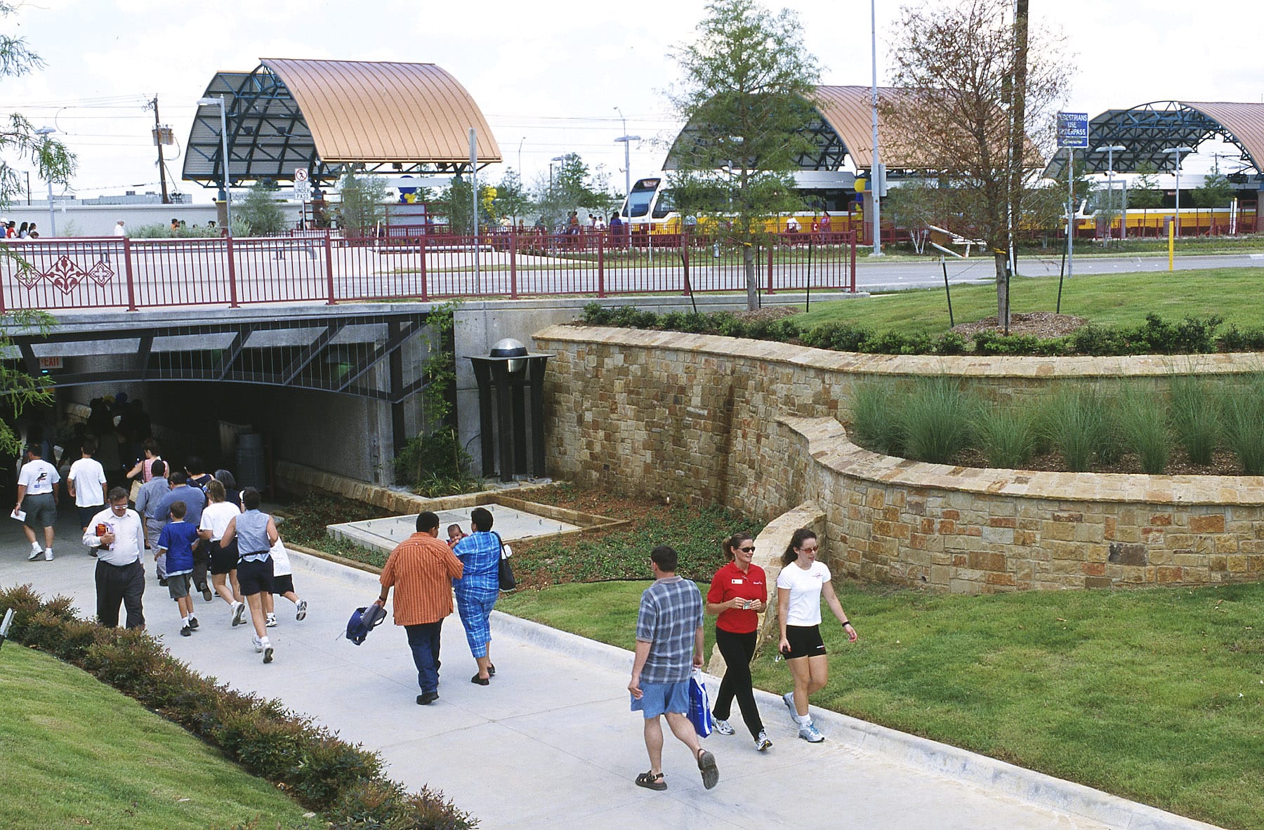
M 11 642 L 0 651 L 0 758 L 9 830 L 308 826 L 297 802 L 179 726 Z

